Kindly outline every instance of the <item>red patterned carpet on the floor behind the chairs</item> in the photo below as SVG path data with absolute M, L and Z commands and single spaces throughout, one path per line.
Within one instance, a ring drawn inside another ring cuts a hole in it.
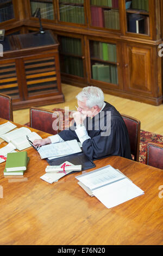
M 53 111 L 58 112 L 63 116 L 65 115 L 64 109 L 54 108 Z M 68 114 L 66 115 L 66 118 L 63 118 L 63 120 L 65 121 L 61 125 L 61 130 L 63 130 L 64 127 L 72 125 L 72 122 L 73 122 L 72 113 L 73 111 L 69 113 L 69 122 L 68 122 Z M 29 123 L 25 125 L 29 126 Z M 158 135 L 156 133 L 148 132 L 148 131 L 143 131 L 143 130 L 140 131 L 140 154 L 139 154 L 140 163 L 146 163 L 146 145 L 148 142 L 154 142 L 154 143 L 163 145 L 163 136 Z

